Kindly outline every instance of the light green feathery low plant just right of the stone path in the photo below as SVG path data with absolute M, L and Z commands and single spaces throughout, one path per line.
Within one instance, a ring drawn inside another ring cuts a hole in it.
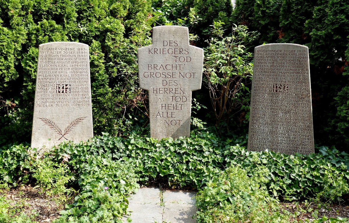
M 267 170 L 259 168 L 248 177 L 239 167 L 229 167 L 196 195 L 197 222 L 290 222 L 269 197 Z

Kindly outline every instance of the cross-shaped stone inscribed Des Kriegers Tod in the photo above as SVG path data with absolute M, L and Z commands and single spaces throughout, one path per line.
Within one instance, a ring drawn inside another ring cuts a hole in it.
M 192 91 L 201 88 L 203 50 L 189 45 L 188 28 L 153 28 L 153 42 L 138 49 L 140 88 L 149 92 L 150 135 L 190 135 Z

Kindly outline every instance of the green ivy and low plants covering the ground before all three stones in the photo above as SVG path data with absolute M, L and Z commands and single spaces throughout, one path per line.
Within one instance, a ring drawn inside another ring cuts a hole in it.
M 347 153 L 323 146 L 315 154 L 289 156 L 248 152 L 245 146 L 246 137 L 223 139 L 203 129 L 190 138 L 162 140 L 138 130 L 121 137 L 104 134 L 43 154 L 28 145 L 8 145 L 0 149 L 0 180 L 47 188 L 65 204 L 55 221 L 62 223 L 122 222 L 137 182 L 198 189 L 202 223 L 288 222 L 291 214 L 280 210 L 278 200 L 332 203 L 349 193 Z M 6 219 L 11 213 L 3 207 Z

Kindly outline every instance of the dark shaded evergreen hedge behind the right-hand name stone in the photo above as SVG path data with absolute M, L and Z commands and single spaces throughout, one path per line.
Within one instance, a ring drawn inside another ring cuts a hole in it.
M 349 123 L 343 119 L 344 110 L 341 114 L 346 101 L 340 96 L 348 83 L 343 75 L 348 61 L 348 16 L 348 3 L 340 0 L 237 0 L 233 12 L 234 22 L 261 33 L 255 45 L 296 43 L 309 47 L 315 141 L 341 150 L 349 145 L 343 135 L 343 127 Z

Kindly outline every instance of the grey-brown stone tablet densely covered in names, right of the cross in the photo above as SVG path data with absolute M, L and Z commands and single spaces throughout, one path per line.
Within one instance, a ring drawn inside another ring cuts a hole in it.
M 248 149 L 314 152 L 309 54 L 298 44 L 254 49 Z

